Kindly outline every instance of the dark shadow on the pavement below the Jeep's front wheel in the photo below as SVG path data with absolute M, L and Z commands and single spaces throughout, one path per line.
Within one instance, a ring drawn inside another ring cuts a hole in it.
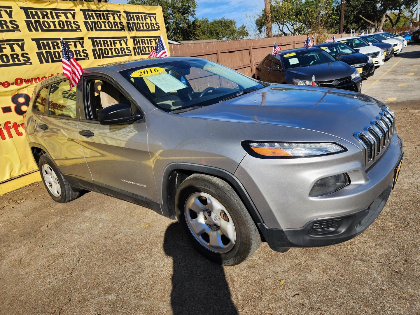
M 163 249 L 173 259 L 173 315 L 237 312 L 222 266 L 202 257 L 188 243 L 178 223 L 166 229 Z

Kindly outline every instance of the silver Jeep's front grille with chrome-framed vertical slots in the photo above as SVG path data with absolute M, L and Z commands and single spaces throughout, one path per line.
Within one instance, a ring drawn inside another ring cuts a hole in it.
M 378 160 L 385 152 L 395 129 L 394 112 L 386 105 L 382 106 L 382 110 L 375 118 L 375 120 L 370 121 L 370 125 L 363 128 L 363 131 L 356 131 L 353 134 L 365 148 L 366 166 Z

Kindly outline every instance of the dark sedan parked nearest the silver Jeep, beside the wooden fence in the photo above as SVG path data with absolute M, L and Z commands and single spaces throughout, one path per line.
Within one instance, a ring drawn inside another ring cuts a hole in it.
M 255 69 L 255 77 L 273 83 L 312 85 L 314 75 L 316 86 L 360 92 L 360 72 L 339 60 L 341 56 L 334 57 L 318 47 L 284 50 L 265 57 Z

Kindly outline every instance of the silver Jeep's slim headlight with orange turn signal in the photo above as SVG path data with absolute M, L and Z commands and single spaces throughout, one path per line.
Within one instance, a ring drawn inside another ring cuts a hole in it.
M 250 142 L 250 153 L 258 157 L 311 157 L 346 151 L 334 143 Z M 255 155 L 254 153 L 254 155 Z

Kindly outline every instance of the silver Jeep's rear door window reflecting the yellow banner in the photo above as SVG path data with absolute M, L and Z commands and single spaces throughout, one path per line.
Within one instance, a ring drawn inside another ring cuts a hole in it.
M 69 89 L 68 80 L 51 84 L 48 113 L 60 117 L 76 118 L 76 90 Z

